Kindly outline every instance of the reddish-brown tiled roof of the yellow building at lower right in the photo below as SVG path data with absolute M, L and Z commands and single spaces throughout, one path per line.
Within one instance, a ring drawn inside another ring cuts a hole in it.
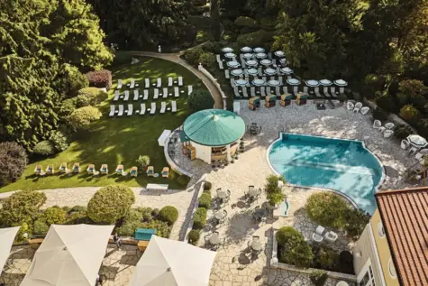
M 400 284 L 428 285 L 428 188 L 375 196 Z

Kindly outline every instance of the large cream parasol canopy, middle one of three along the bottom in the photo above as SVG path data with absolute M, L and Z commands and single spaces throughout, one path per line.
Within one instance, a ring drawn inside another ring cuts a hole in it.
M 51 225 L 21 286 L 94 286 L 113 228 Z

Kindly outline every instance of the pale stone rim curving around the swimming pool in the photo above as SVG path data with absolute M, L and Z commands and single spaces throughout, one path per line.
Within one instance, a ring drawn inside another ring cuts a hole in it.
M 377 193 L 377 192 L 379 191 L 380 187 L 382 186 L 382 184 L 384 183 L 384 181 L 385 181 L 385 179 L 386 179 L 386 177 L 385 177 L 386 170 L 385 170 L 385 166 L 384 166 L 384 164 L 382 163 L 382 161 L 379 159 L 379 157 L 378 157 L 374 152 L 371 152 L 371 151 L 369 150 L 369 148 L 367 148 L 367 147 L 366 147 L 366 143 L 364 143 L 364 140 L 353 140 L 353 139 L 345 139 L 345 138 L 339 138 L 339 137 L 328 137 L 328 136 L 320 136 L 320 135 L 311 135 L 311 134 L 296 134 L 296 133 L 290 133 L 290 132 L 279 132 L 279 134 L 278 134 L 278 138 L 277 138 L 276 140 L 274 140 L 272 143 L 270 143 L 270 144 L 269 144 L 269 146 L 268 146 L 268 150 L 267 150 L 267 152 L 266 152 L 266 161 L 268 161 L 269 168 L 270 168 L 270 170 L 271 170 L 271 171 L 273 171 L 277 176 L 282 176 L 282 175 L 281 175 L 280 173 L 278 173 L 278 171 L 276 171 L 276 170 L 275 170 L 275 168 L 273 168 L 272 164 L 270 163 L 270 160 L 269 160 L 269 153 L 270 153 L 270 150 L 272 149 L 273 145 L 274 145 L 275 143 L 277 143 L 278 141 L 281 141 L 281 140 L 282 140 L 282 134 L 290 134 L 290 135 L 304 135 L 304 136 L 311 136 L 311 137 L 318 137 L 318 138 L 336 139 L 336 140 L 343 140 L 343 141 L 350 141 L 350 142 L 358 142 L 358 143 L 361 143 L 362 147 L 363 147 L 364 149 L 366 149 L 370 154 L 372 154 L 372 155 L 373 155 L 373 157 L 375 157 L 375 158 L 376 158 L 376 160 L 378 160 L 378 163 L 379 163 L 380 167 L 382 167 L 382 176 L 380 177 L 380 180 L 379 180 L 379 182 L 378 182 L 378 185 L 376 185 L 376 187 L 375 187 L 375 193 Z M 286 181 L 287 181 L 287 178 L 286 178 Z M 304 189 L 322 189 L 322 190 L 329 190 L 329 191 L 333 191 L 334 193 L 339 194 L 339 195 L 341 195 L 342 197 L 347 198 L 348 200 L 350 200 L 350 201 L 351 201 L 351 203 L 352 203 L 352 205 L 353 205 L 354 207 L 358 208 L 358 204 L 357 204 L 357 203 L 356 203 L 356 202 L 355 202 L 351 197 L 349 197 L 349 196 L 348 196 L 347 194 L 345 194 L 345 193 L 342 193 L 342 192 L 341 192 L 340 190 L 338 190 L 338 189 L 327 189 L 327 188 L 322 188 L 322 187 L 305 186 L 305 185 L 295 185 L 295 184 L 290 184 L 290 183 L 287 183 L 287 186 L 290 186 L 290 187 L 296 187 L 296 188 L 304 188 Z

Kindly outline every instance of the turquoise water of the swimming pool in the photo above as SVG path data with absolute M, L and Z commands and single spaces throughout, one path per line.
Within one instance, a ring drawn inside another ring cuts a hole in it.
M 383 169 L 361 142 L 282 134 L 269 161 L 291 184 L 339 190 L 370 214 L 376 209 L 374 193 Z

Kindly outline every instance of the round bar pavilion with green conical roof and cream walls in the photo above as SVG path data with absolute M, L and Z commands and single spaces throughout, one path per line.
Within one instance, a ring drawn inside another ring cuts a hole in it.
M 231 160 L 245 134 L 245 123 L 231 111 L 205 109 L 187 117 L 183 132 L 190 142 L 188 157 L 211 163 Z

